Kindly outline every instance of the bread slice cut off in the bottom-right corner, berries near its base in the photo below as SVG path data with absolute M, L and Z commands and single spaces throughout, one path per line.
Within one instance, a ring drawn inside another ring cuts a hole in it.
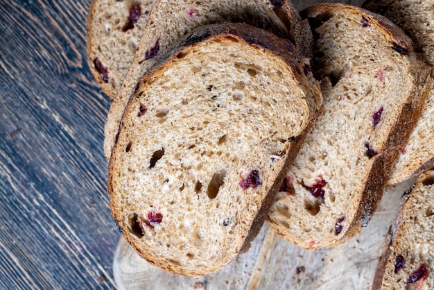
M 386 237 L 372 289 L 434 289 L 434 171 L 407 193 Z

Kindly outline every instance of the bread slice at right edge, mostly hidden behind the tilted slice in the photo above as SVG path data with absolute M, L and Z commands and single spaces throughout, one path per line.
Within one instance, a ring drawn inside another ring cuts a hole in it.
M 424 51 L 431 67 L 434 64 L 434 1 L 366 1 L 368 10 L 388 17 L 403 28 L 415 41 L 417 48 Z M 388 184 L 394 185 L 434 167 L 434 91 L 431 92 L 426 108 L 422 112 L 406 148 L 390 172 Z

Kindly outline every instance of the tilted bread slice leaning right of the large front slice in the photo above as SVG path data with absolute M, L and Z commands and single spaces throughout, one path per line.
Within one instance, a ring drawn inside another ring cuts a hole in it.
M 306 137 L 268 221 L 303 248 L 356 236 L 428 97 L 428 67 L 392 22 L 367 10 L 322 3 L 302 11 L 315 37 L 313 71 L 325 113 Z

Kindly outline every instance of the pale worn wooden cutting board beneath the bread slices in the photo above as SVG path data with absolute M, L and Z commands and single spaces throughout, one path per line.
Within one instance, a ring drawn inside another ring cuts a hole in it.
M 320 1 L 293 1 L 297 9 Z M 332 2 L 332 1 L 327 1 Z M 340 1 L 360 5 L 363 1 Z M 415 179 L 387 187 L 367 228 L 336 248 L 304 250 L 280 239 L 265 224 L 245 253 L 218 273 L 192 279 L 160 270 L 141 259 L 121 237 L 113 272 L 120 290 L 134 289 L 370 289 L 385 234 L 402 194 Z

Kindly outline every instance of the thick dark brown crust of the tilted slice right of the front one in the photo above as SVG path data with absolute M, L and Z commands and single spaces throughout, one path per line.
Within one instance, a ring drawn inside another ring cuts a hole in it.
M 412 53 L 413 46 L 410 38 L 388 19 L 375 15 L 370 11 L 340 3 L 320 3 L 306 8 L 300 14 L 304 15 L 304 17 L 312 18 L 324 13 L 333 14 L 333 11 L 361 15 L 361 19 L 362 16 L 365 17 L 370 23 L 383 29 L 387 35 L 390 35 L 393 43 L 400 44 L 409 54 Z M 417 64 L 415 64 L 416 66 Z M 419 67 L 422 66 L 419 65 Z M 390 170 L 399 157 L 399 152 L 408 142 L 408 138 L 413 132 L 431 92 L 433 80 L 429 77 L 430 72 L 431 70 L 428 67 L 417 71 L 417 74 L 420 74 L 420 77 L 417 79 L 418 83 L 413 85 L 410 96 L 406 96 L 408 103 L 403 106 L 397 121 L 394 123 L 392 130 L 390 130 L 385 142 L 387 146 L 378 155 L 374 156 L 374 162 L 363 187 L 361 202 L 357 206 L 356 214 L 349 225 L 349 229 L 338 241 L 329 246 L 338 246 L 355 237 L 370 221 L 372 214 L 374 214 L 376 207 L 381 201 L 383 188 L 388 180 Z

